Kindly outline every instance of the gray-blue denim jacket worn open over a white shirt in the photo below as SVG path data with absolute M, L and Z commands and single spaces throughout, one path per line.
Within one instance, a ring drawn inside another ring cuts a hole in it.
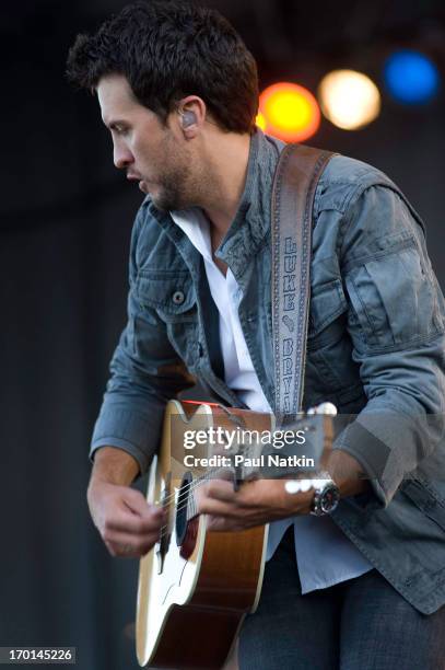
M 239 321 L 271 407 L 270 197 L 282 147 L 253 136 L 245 193 L 216 253 L 242 288 Z M 335 447 L 358 459 L 373 494 L 341 500 L 332 518 L 424 613 L 445 603 L 444 314 L 415 211 L 378 170 L 333 158 L 315 198 L 304 406 L 331 401 L 359 415 Z M 241 406 L 223 381 L 218 332 L 201 256 L 145 198 L 92 454 L 119 447 L 144 473 L 165 403 L 196 379 Z

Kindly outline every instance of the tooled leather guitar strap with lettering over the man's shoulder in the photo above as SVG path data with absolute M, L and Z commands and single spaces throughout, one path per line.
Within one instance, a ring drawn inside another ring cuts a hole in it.
M 272 189 L 272 323 L 277 427 L 297 418 L 303 400 L 314 197 L 329 151 L 288 145 Z

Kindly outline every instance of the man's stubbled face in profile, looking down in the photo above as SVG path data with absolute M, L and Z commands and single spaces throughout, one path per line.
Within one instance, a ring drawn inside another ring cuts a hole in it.
M 179 124 L 164 127 L 154 112 L 133 97 L 121 74 L 102 78 L 97 97 L 103 122 L 112 132 L 116 168 L 126 170 L 127 178 L 139 182 L 139 188 L 150 194 L 160 209 L 190 206 L 192 161 Z

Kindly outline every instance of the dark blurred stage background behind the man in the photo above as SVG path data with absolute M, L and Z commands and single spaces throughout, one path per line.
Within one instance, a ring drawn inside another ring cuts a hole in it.
M 444 73 L 440 0 L 208 4 L 245 37 L 262 85 L 291 78 L 315 90 L 339 66 L 379 82 L 395 46 L 428 48 Z M 0 27 L 0 646 L 77 646 L 80 670 L 138 667 L 138 565 L 108 555 L 85 489 L 90 435 L 125 323 L 141 194 L 113 168 L 96 101 L 63 79 L 75 34 L 122 5 L 11 3 Z M 346 132 L 324 120 L 311 140 L 376 164 L 401 186 L 426 221 L 442 286 L 444 112 L 443 94 L 412 109 L 385 97 L 368 128 Z

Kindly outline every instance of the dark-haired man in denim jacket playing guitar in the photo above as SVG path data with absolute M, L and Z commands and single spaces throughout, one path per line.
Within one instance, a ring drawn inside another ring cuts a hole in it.
M 197 378 L 227 405 L 273 409 L 283 145 L 255 128 L 255 61 L 215 11 L 130 5 L 78 37 L 68 72 L 97 94 L 115 165 L 147 194 L 87 494 L 112 555 L 136 557 L 163 523 L 130 484 L 167 400 Z M 215 481 L 200 500 L 218 529 L 271 523 L 242 670 L 445 668 L 444 371 L 444 303 L 417 213 L 384 174 L 335 157 L 315 198 L 304 406 L 359 415 L 329 462 L 340 504 L 313 516 L 314 490 L 271 480 L 236 493 Z

